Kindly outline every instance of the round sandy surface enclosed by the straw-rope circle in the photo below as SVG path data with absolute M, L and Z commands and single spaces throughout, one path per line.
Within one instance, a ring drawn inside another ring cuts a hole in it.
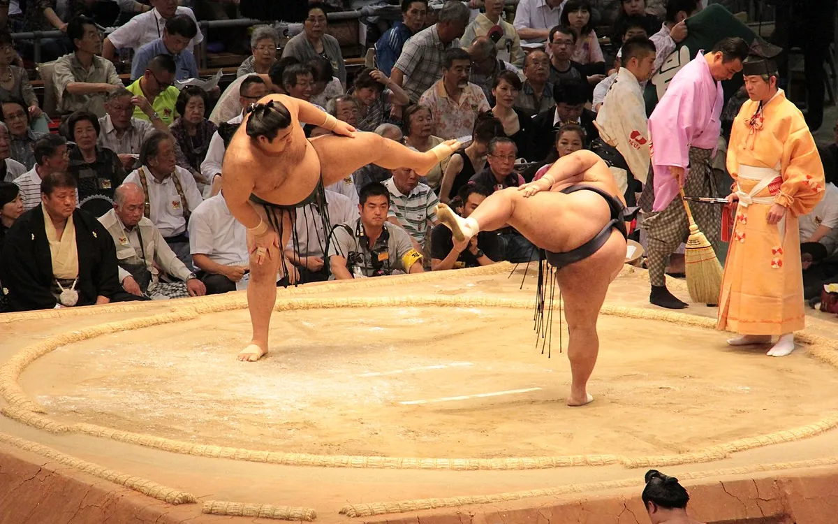
M 246 311 L 205 314 L 61 347 L 22 385 L 62 421 L 312 454 L 677 454 L 835 412 L 823 392 L 838 371 L 804 351 L 769 359 L 652 320 L 598 327 L 597 401 L 582 409 L 565 406 L 558 323 L 548 359 L 531 310 L 489 307 L 283 311 L 256 364 L 235 360 Z

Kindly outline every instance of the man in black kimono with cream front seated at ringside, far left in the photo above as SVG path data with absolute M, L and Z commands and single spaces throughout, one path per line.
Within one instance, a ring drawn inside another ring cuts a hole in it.
M 110 233 L 75 209 L 75 179 L 41 182 L 41 205 L 20 216 L 0 253 L 0 280 L 13 311 L 109 304 L 136 299 L 119 283 Z

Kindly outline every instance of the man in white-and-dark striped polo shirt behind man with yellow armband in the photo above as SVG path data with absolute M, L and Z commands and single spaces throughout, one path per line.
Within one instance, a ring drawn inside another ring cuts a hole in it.
M 411 236 L 413 249 L 424 252 L 427 231 L 439 223 L 439 199 L 429 185 L 419 182 L 419 175 L 413 169 L 393 169 L 392 173 L 392 178 L 384 182 L 390 191 L 390 211 L 387 213 L 387 220 L 407 231 Z

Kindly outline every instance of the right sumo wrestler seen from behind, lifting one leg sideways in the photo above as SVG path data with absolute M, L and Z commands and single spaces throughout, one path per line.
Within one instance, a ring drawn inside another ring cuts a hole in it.
M 597 317 L 608 284 L 617 278 L 626 257 L 624 210 L 623 195 L 608 166 L 584 149 L 559 158 L 535 182 L 494 192 L 466 219 L 447 205 L 437 207 L 437 217 L 451 228 L 454 241 L 468 241 L 479 231 L 509 224 L 546 250 L 547 262 L 557 270 L 570 334 L 568 406 L 593 400 L 587 379 L 599 352 Z

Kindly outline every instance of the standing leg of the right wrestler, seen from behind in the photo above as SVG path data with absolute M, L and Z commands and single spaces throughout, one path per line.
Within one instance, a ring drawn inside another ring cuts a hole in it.
M 613 231 L 599 251 L 556 272 L 570 335 L 567 359 L 571 361 L 572 382 L 568 406 L 584 406 L 593 401 L 587 392 L 587 381 L 599 355 L 597 319 L 608 284 L 623 267 L 625 251 L 623 234 Z

